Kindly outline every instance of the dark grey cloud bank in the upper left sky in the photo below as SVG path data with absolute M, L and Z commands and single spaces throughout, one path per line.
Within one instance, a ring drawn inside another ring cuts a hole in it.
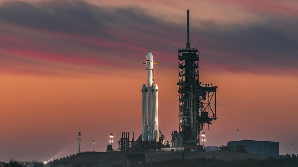
M 79 0 L 49 1 L 38 4 L 6 1 L 0 6 L 0 20 L 32 29 L 111 39 L 117 38 L 105 34 L 105 31 L 111 28 L 110 26 L 130 29 L 141 24 L 144 28 L 158 22 L 134 9 L 107 9 Z

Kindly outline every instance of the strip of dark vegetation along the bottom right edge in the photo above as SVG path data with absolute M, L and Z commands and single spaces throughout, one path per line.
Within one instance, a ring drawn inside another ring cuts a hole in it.
M 264 160 L 215 160 L 207 158 L 196 158 L 192 160 L 168 160 L 158 163 L 146 163 L 144 167 L 298 167 L 296 158 L 272 158 Z

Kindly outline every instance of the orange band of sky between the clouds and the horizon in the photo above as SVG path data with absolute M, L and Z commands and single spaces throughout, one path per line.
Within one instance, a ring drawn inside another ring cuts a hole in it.
M 171 131 L 178 129 L 177 70 L 159 69 L 156 67 L 160 90 L 159 126 L 170 138 Z M 81 150 L 90 150 L 94 139 L 95 149 L 103 151 L 109 133 L 114 133 L 116 139 L 121 132 L 135 131 L 139 135 L 139 87 L 145 82 L 145 70 L 138 65 L 134 71 L 116 85 L 122 74 L 55 76 L 1 97 L 4 118 L 1 131 L 5 136 L 1 143 L 6 143 L 1 147 L 7 150 L 7 158 L 11 155 L 24 160 L 30 157 L 47 160 L 54 158 L 49 155 L 58 158 L 75 153 L 77 131 L 82 132 Z M 210 130 L 204 130 L 207 145 L 224 145 L 236 140 L 239 128 L 240 140 L 280 141 L 280 153 L 288 153 L 291 149 L 288 143 L 298 138 L 296 129 L 291 128 L 297 124 L 298 114 L 294 108 L 298 90 L 294 85 L 298 84 L 298 78 L 218 71 L 214 74 L 220 85 L 218 120 L 212 123 Z M 4 75 L 2 78 L 5 82 L 1 87 L 6 89 L 1 93 L 5 93 L 42 77 Z M 201 70 L 201 78 L 216 83 L 208 71 Z M 100 99 L 87 108 L 97 98 Z

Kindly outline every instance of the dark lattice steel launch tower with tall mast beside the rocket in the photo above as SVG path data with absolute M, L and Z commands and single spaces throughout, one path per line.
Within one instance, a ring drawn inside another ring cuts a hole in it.
M 211 125 L 216 120 L 216 89 L 204 82 L 199 82 L 198 49 L 190 48 L 189 10 L 187 10 L 187 43 L 186 49 L 178 50 L 179 59 L 179 133 L 178 146 L 197 146 L 200 130 L 205 124 Z M 213 97 L 214 96 L 214 97 Z M 174 133 L 173 133 L 174 134 Z M 173 135 L 172 135 L 173 136 Z M 172 137 L 173 141 L 178 140 Z M 173 142 L 172 141 L 172 142 Z

